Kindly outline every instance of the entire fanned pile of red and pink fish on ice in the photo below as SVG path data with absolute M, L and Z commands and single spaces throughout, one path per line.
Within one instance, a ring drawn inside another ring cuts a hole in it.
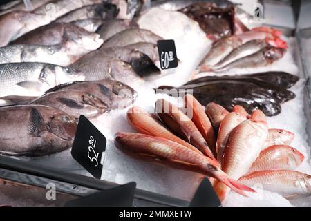
M 311 176 L 292 171 L 304 160 L 288 146 L 294 134 L 268 128 L 262 111 L 249 115 L 237 105 L 229 113 L 214 102 L 204 108 L 189 94 L 185 108 L 187 115 L 164 99 L 156 102 L 156 114 L 130 108 L 127 117 L 139 133 L 119 132 L 115 145 L 141 160 L 213 177 L 220 200 L 230 189 L 252 191 L 241 183 L 260 183 L 286 197 L 311 193 Z

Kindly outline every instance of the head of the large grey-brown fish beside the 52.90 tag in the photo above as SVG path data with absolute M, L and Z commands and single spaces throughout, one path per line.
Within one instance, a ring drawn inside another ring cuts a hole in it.
M 50 132 L 63 140 L 73 140 L 75 131 L 77 130 L 77 123 L 73 117 L 66 113 L 59 111 L 51 117 L 48 122 Z

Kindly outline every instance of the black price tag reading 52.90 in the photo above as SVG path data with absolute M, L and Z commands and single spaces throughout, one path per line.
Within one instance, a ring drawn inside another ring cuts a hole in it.
M 71 155 L 97 179 L 102 176 L 100 160 L 106 150 L 106 142 L 106 137 L 84 115 L 81 115 Z

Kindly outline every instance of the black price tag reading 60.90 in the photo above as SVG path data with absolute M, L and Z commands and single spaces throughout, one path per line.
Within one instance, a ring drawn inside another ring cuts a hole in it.
M 174 40 L 159 40 L 158 52 L 162 70 L 176 68 L 178 66 Z

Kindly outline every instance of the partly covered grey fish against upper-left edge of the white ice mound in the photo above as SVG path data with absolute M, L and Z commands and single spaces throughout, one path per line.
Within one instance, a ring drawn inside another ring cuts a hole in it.
M 111 19 L 105 21 L 103 25 L 97 30 L 100 38 L 104 41 L 113 37 L 119 32 L 130 28 L 139 28 L 138 24 L 128 19 Z

